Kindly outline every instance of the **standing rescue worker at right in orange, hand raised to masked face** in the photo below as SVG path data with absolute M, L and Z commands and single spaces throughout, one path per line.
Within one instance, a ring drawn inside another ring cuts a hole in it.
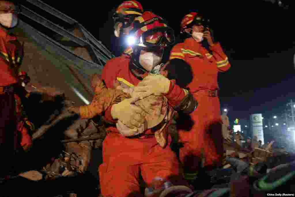
M 208 170 L 220 164 L 223 157 L 217 75 L 227 71 L 230 63 L 220 44 L 213 41 L 206 21 L 196 12 L 187 14 L 182 19 L 181 31 L 191 36 L 183 43 L 176 44 L 169 58 L 170 64 L 191 66 L 194 78 L 188 88 L 199 103 L 198 108 L 190 114 L 194 121 L 191 130 L 179 130 L 183 143 L 179 157 L 190 178 L 196 177 L 202 155 L 205 158 L 203 165 Z M 207 49 L 206 44 L 209 45 Z M 145 82 L 145 85 L 148 86 L 149 82 Z M 134 91 L 140 92 L 142 89 L 135 88 Z M 142 95 L 153 93 L 148 89 L 146 91 Z

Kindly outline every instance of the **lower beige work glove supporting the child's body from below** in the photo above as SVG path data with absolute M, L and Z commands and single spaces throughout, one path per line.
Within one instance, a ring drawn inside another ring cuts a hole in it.
M 134 98 L 125 99 L 112 106 L 111 115 L 113 119 L 118 119 L 129 128 L 141 128 L 145 122 L 145 112 L 133 105 Z

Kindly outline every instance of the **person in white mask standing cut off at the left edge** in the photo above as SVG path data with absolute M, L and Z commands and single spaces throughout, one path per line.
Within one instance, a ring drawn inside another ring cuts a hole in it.
M 19 6 L 15 1 L 0 1 L 0 177 L 12 171 L 18 146 L 17 117 L 14 87 L 18 83 L 23 48 L 9 30 L 17 26 Z

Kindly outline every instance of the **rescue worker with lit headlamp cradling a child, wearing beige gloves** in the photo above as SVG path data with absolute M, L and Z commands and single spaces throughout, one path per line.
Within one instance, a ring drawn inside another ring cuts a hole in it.
M 115 82 L 123 86 L 137 86 L 145 72 L 151 72 L 160 64 L 165 46 L 174 40 L 173 30 L 152 12 L 144 12 L 135 19 L 132 35 L 135 38 L 132 55 L 113 58 L 104 66 L 101 77 L 107 88 L 114 88 Z M 150 74 L 145 79 L 149 81 L 150 76 L 155 76 L 156 83 L 161 84 L 154 86 L 155 95 L 165 95 L 169 106 L 182 109 L 195 103 L 186 100 L 189 98 L 188 91 L 177 86 L 175 81 L 160 74 Z M 135 98 L 137 96 L 132 95 L 132 98 L 107 108 L 104 113 L 105 121 L 116 123 L 119 120 L 129 128 L 140 128 L 146 113 L 131 104 Z M 167 127 L 169 122 L 165 124 Z M 155 177 L 172 182 L 181 179 L 176 155 L 169 146 L 162 148 L 158 144 L 152 129 L 133 137 L 122 136 L 114 126 L 109 126 L 106 130 L 108 134 L 103 142 L 103 163 L 99 166 L 103 196 L 140 196 L 140 174 L 147 187 L 152 185 Z M 171 137 L 166 137 L 169 144 Z

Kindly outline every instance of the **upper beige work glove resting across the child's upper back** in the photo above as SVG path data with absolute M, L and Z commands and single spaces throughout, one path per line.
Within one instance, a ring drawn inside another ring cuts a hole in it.
M 167 94 L 170 80 L 161 74 L 149 74 L 138 83 L 132 92 L 132 98 L 143 99 L 144 97 Z

